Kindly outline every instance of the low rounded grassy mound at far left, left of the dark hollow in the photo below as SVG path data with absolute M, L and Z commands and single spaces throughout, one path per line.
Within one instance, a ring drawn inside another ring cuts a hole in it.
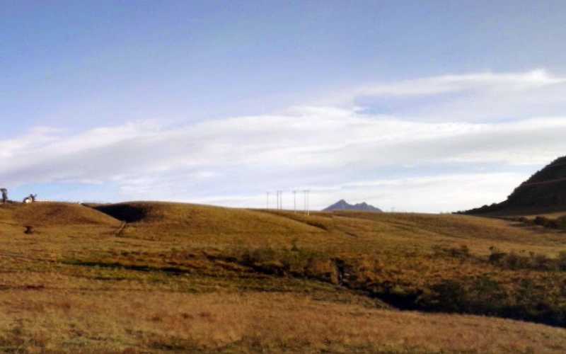
M 9 205 L 4 209 L 4 217 L 10 217 L 12 222 L 21 225 L 120 225 L 120 221 L 102 212 L 71 203 L 37 202 L 30 205 Z

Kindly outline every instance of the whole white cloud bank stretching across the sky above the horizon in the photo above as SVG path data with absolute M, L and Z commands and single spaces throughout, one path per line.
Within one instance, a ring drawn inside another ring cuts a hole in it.
M 308 188 L 313 207 L 349 198 L 457 210 L 502 200 L 566 153 L 565 94 L 565 79 L 543 70 L 480 73 L 376 84 L 352 90 L 349 104 L 190 125 L 35 127 L 0 141 L 0 180 L 98 185 L 103 200 L 263 207 L 266 190 Z M 403 104 L 379 112 L 376 103 L 391 97 Z

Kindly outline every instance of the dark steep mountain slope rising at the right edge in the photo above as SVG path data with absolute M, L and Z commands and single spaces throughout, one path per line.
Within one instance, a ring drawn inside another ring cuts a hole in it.
M 541 214 L 566 210 L 566 156 L 536 172 L 504 202 L 484 205 L 464 214 Z

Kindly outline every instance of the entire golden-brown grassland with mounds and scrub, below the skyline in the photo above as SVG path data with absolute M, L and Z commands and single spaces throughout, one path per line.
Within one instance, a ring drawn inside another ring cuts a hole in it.
M 0 207 L 0 351 L 566 350 L 559 230 L 461 215 L 93 207 Z

